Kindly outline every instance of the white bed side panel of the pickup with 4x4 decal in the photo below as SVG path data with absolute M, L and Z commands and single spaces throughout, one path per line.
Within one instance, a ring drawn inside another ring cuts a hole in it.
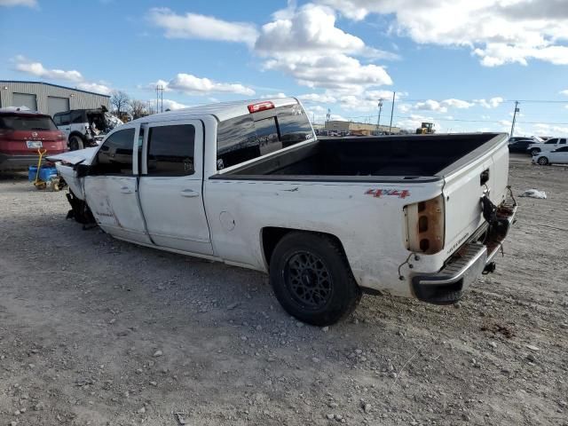
M 407 195 L 383 191 L 375 196 L 377 189 Z M 264 227 L 329 233 L 342 242 L 359 285 L 410 296 L 408 280 L 398 279 L 398 266 L 410 254 L 403 208 L 441 190 L 441 181 L 388 185 L 209 179 L 204 195 L 215 254 L 228 263 L 267 271 Z M 441 262 L 432 267 L 439 269 Z

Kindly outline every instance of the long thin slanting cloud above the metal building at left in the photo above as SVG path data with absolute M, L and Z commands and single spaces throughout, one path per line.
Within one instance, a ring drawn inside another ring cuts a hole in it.
M 83 75 L 75 69 L 66 71 L 57 68 L 46 68 L 43 67 L 41 62 L 35 62 L 21 55 L 16 56 L 13 61 L 15 62 L 14 69 L 28 75 L 34 75 L 38 78 L 59 80 L 66 83 L 75 83 L 75 87 L 82 91 L 94 91 L 103 95 L 108 95 L 112 91 L 112 89 L 105 83 L 86 81 Z

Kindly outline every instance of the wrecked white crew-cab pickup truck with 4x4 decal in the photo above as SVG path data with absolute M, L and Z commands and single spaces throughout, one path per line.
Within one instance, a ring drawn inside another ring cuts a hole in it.
M 318 139 L 297 99 L 262 99 L 147 116 L 50 159 L 78 221 L 268 272 L 287 312 L 323 326 L 363 292 L 452 304 L 493 270 L 517 210 L 507 141 Z

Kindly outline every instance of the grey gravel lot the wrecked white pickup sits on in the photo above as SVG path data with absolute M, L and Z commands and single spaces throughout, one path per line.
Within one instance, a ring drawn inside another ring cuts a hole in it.
M 463 301 L 364 296 L 328 329 L 264 275 L 115 241 L 0 175 L 0 426 L 568 424 L 568 170 Z M 177 415 L 176 413 L 183 413 Z

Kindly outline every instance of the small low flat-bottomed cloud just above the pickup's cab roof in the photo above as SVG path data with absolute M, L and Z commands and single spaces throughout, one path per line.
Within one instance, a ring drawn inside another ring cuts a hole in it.
M 184 73 L 177 74 L 169 82 L 158 80 L 155 83 L 150 83 L 146 85 L 146 89 L 155 90 L 156 85 L 161 85 L 164 91 L 179 91 L 190 95 L 236 93 L 239 95 L 252 96 L 255 94 L 255 91 L 241 83 L 218 83 L 209 78 L 201 78 Z

